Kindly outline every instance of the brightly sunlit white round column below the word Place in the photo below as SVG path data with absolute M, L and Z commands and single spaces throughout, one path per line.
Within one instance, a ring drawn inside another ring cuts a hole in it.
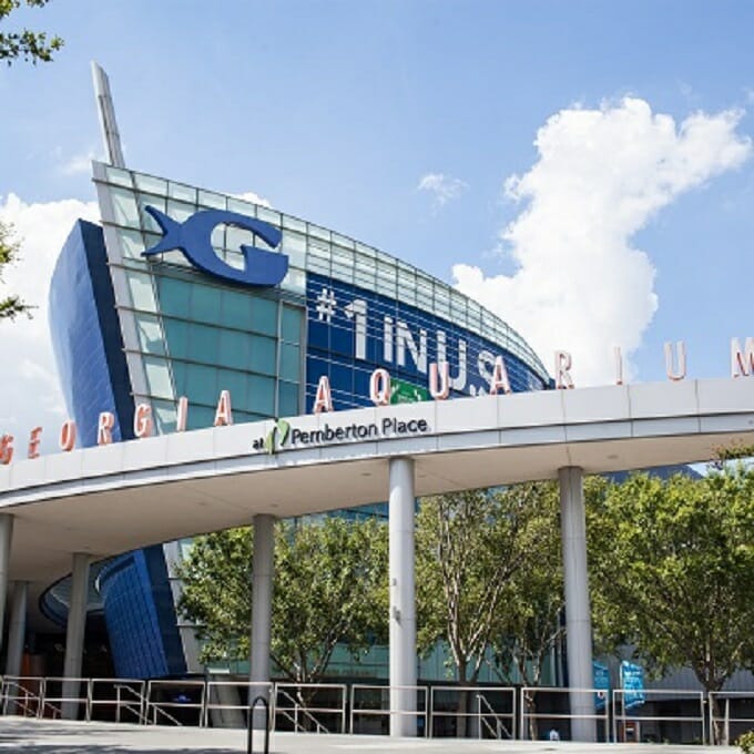
M 416 686 L 414 460 L 390 461 L 390 686 Z M 390 735 L 415 736 L 416 689 L 390 689 Z

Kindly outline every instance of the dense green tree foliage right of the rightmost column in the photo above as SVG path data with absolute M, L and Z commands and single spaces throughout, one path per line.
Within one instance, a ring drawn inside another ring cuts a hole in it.
M 719 691 L 754 666 L 754 473 L 638 475 L 590 496 L 593 624 L 651 672 L 689 665 Z

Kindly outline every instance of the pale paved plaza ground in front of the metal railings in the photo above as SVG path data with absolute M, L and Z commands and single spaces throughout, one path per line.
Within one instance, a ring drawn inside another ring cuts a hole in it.
M 26 720 L 0 716 L 0 752 L 28 754 L 160 754 L 162 752 L 215 752 L 235 754 L 246 751 L 244 731 L 196 727 L 151 727 Z M 261 750 L 255 748 L 255 752 Z M 441 738 L 388 738 L 385 736 L 308 735 L 275 733 L 271 752 L 275 754 L 460 754 L 502 752 L 505 754 L 724 754 L 732 746 L 677 746 L 658 744 L 579 744 L 523 741 L 473 741 Z

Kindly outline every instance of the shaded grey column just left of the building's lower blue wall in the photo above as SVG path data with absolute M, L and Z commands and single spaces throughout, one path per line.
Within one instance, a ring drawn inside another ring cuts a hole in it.
M 86 628 L 86 598 L 89 595 L 89 563 L 91 557 L 85 552 L 73 553 L 73 571 L 71 573 L 71 604 L 68 608 L 65 626 L 65 658 L 63 660 L 62 696 L 77 699 L 81 696 L 81 661 L 84 653 L 84 629 Z M 61 715 L 63 720 L 75 720 L 79 702 L 63 702 Z

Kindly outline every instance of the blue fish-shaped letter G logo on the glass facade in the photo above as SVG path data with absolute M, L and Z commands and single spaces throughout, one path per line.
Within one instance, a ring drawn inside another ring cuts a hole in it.
M 224 210 L 202 210 L 179 223 L 160 210 L 152 206 L 145 208 L 162 228 L 163 237 L 152 248 L 142 252 L 142 256 L 164 254 L 177 248 L 194 267 L 207 275 L 244 285 L 277 285 L 288 272 L 288 257 L 285 254 L 242 245 L 244 268 L 238 269 L 223 262 L 212 247 L 212 232 L 217 225 L 235 225 L 258 235 L 275 248 L 281 243 L 283 234 L 269 223 Z

